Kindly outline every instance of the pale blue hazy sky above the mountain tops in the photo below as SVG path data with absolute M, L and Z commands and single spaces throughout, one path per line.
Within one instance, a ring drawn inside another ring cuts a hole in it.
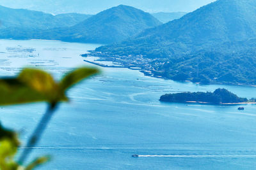
M 48 13 L 98 13 L 119 4 L 147 12 L 193 11 L 215 0 L 0 0 L 0 5 Z

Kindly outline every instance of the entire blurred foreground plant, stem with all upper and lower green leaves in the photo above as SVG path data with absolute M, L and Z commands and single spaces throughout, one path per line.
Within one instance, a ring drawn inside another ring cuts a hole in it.
M 15 77 L 0 78 L 0 105 L 24 104 L 34 102 L 49 103 L 46 113 L 42 116 L 28 143 L 20 154 L 19 161 L 15 161 L 15 154 L 19 148 L 19 140 L 15 132 L 6 131 L 0 124 L 0 169 L 1 170 L 31 170 L 44 164 L 49 157 L 38 157 L 27 167 L 24 164 L 30 153 L 42 137 L 54 111 L 60 102 L 67 102 L 67 90 L 94 74 L 98 69 L 80 67 L 65 74 L 60 81 L 54 81 L 51 74 L 35 68 L 22 69 Z

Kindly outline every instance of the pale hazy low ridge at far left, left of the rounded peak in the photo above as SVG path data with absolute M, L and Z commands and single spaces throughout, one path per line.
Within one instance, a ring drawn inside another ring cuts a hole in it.
M 12 9 L 0 6 L 0 29 L 5 28 L 29 28 L 29 29 L 51 29 L 54 27 L 69 27 L 85 20 L 90 15 L 67 13 L 62 15 L 51 15 L 40 11 L 23 9 Z

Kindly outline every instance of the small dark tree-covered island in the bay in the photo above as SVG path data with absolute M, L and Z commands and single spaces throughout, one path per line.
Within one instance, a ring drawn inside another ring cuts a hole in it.
M 238 104 L 255 103 L 255 99 L 238 97 L 226 89 L 216 89 L 214 92 L 182 92 L 164 94 L 159 101 L 169 103 L 209 103 L 209 104 Z

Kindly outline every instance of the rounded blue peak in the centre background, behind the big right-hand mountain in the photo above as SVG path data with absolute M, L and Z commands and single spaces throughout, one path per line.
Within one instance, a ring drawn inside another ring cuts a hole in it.
M 162 24 L 149 13 L 131 6 L 116 6 L 102 11 L 65 30 L 61 40 L 89 43 L 115 43 L 144 29 Z M 62 34 L 62 33 L 61 33 Z

